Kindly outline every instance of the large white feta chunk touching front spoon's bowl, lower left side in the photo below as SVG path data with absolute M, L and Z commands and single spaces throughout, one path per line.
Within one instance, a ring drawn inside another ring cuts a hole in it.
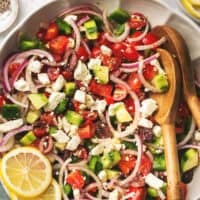
M 151 116 L 158 108 L 157 102 L 154 99 L 145 99 L 141 102 L 140 112 L 142 117 Z

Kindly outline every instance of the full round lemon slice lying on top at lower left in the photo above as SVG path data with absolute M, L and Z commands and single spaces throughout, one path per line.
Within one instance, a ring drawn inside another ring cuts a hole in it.
M 49 160 L 32 147 L 19 147 L 5 154 L 1 174 L 9 191 L 29 199 L 42 194 L 52 180 Z

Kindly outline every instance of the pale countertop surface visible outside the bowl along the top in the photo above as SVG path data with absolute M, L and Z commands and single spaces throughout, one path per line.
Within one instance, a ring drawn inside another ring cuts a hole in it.
M 52 0 L 19 0 L 19 15 L 15 23 L 12 25 L 10 29 L 8 29 L 6 32 L 0 34 L 0 46 L 5 38 L 5 36 L 8 34 L 9 31 L 11 31 L 27 14 L 30 14 L 43 6 L 44 4 L 47 4 L 48 2 L 51 2 Z M 173 9 L 180 11 L 178 8 L 175 0 L 161 0 L 166 2 L 170 7 Z M 181 11 L 180 11 L 181 12 Z

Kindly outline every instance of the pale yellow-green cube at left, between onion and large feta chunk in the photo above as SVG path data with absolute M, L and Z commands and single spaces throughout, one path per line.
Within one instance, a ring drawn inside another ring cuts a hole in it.
M 41 109 L 48 103 L 47 97 L 41 93 L 29 94 L 28 98 L 37 110 Z

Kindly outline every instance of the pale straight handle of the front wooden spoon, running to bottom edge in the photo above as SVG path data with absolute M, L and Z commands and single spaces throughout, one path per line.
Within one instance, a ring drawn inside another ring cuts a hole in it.
M 167 168 L 167 199 L 181 200 L 179 161 L 174 124 L 163 124 L 162 131 Z

